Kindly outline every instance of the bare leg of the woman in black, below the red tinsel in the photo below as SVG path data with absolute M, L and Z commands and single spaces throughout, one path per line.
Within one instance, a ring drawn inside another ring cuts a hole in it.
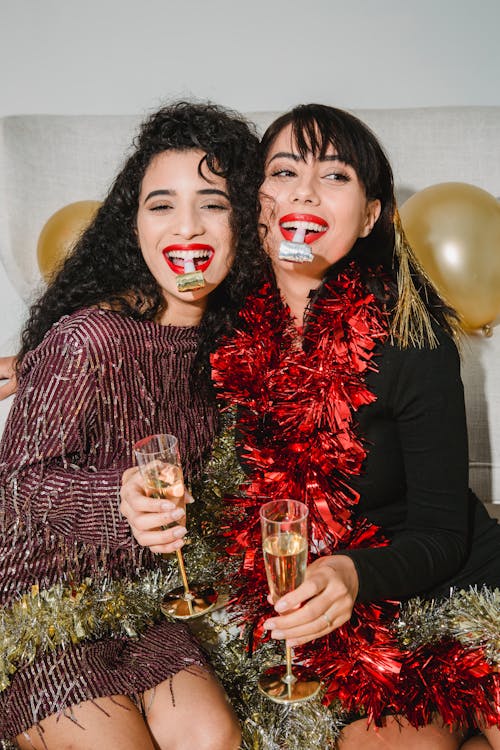
M 366 719 L 355 721 L 342 731 L 339 750 L 457 750 L 459 734 L 450 732 L 439 721 L 415 729 L 406 719 L 388 716 L 383 727 Z

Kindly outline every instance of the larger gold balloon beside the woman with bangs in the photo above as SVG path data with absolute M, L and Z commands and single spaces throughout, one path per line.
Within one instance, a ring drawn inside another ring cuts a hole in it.
M 500 315 L 500 206 L 481 188 L 444 182 L 400 210 L 406 236 L 429 278 L 466 328 Z

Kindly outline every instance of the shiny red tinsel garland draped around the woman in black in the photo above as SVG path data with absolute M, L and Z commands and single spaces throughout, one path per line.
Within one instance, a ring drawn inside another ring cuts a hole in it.
M 361 472 L 366 457 L 354 412 L 376 398 L 365 378 L 388 323 L 354 266 L 327 282 L 327 292 L 312 305 L 301 341 L 276 288 L 265 284 L 248 300 L 241 330 L 212 357 L 220 397 L 240 407 L 238 442 L 251 477 L 244 498 L 226 498 L 223 533 L 229 552 L 244 553 L 233 604 L 251 625 L 254 643 L 266 637 L 262 625 L 270 614 L 263 502 L 291 497 L 308 506 L 312 557 L 386 544 L 380 529 L 353 517 L 359 498 L 349 477 Z M 471 721 L 476 696 L 477 716 L 494 722 L 491 691 L 485 697 L 480 679 L 464 681 L 471 659 L 476 677 L 491 673 L 484 656 L 454 642 L 404 651 L 392 628 L 397 616 L 394 602 L 357 605 L 342 628 L 298 650 L 324 680 L 325 701 L 339 699 L 376 723 L 387 711 L 401 713 L 418 726 L 436 710 L 450 724 Z M 443 670 L 450 649 L 454 666 Z

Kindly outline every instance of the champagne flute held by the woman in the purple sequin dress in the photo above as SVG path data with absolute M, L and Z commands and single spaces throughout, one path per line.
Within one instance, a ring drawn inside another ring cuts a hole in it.
M 177 438 L 166 434 L 149 435 L 134 445 L 134 454 L 150 496 L 165 498 L 182 507 L 184 477 Z M 182 586 L 165 596 L 161 610 L 182 620 L 200 617 L 213 609 L 217 592 L 210 586 L 189 583 L 182 550 L 176 550 L 176 555 Z

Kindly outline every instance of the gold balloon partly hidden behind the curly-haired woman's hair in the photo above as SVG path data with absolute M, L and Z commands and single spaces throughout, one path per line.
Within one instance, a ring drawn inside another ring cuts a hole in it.
M 40 273 L 46 281 L 89 226 L 100 205 L 99 201 L 76 201 L 60 208 L 47 220 L 36 250 Z

